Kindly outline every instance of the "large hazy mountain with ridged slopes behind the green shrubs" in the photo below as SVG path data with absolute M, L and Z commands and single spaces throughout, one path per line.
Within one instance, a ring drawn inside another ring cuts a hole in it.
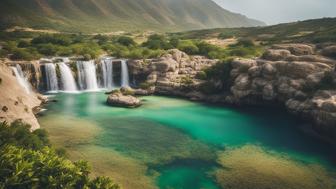
M 1 0 L 0 25 L 102 32 L 264 24 L 229 12 L 212 0 Z

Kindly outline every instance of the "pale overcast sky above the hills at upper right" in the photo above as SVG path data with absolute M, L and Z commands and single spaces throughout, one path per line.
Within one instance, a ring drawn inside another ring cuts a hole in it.
M 214 0 L 223 8 L 267 24 L 336 17 L 336 0 Z

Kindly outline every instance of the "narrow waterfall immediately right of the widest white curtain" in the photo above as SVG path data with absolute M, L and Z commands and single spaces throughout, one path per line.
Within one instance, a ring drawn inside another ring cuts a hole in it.
M 113 62 L 111 58 L 106 58 L 101 61 L 102 82 L 101 86 L 105 89 L 112 89 L 113 82 Z

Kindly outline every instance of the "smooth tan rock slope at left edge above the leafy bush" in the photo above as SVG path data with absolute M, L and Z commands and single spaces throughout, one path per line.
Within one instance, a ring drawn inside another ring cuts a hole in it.
M 34 115 L 37 107 L 44 100 L 34 92 L 27 93 L 18 83 L 13 71 L 0 62 L 0 121 L 11 123 L 22 120 L 32 126 L 32 130 L 39 128 Z

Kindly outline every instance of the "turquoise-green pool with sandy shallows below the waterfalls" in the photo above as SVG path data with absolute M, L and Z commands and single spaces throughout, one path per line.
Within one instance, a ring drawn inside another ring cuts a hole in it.
M 266 162 L 283 164 L 274 177 L 292 188 L 301 180 L 294 182 L 283 173 L 305 173 L 312 165 L 319 171 L 305 178 L 323 175 L 324 183 L 334 181 L 332 149 L 305 136 L 298 129 L 300 121 L 281 110 L 233 109 L 159 96 L 142 97 L 142 107 L 125 109 L 106 106 L 102 92 L 60 93 L 53 98 L 57 101 L 39 117 L 52 142 L 65 147 L 71 159 L 88 160 L 94 175 L 111 176 L 126 189 L 230 188 L 223 182 L 241 178 L 240 171 L 269 174 L 272 163 L 260 166 L 252 161 L 244 167 L 228 160 L 249 157 L 247 149 L 258 149 L 255 157 Z M 226 164 L 232 172 L 225 172 Z M 323 186 L 332 188 L 327 184 Z

